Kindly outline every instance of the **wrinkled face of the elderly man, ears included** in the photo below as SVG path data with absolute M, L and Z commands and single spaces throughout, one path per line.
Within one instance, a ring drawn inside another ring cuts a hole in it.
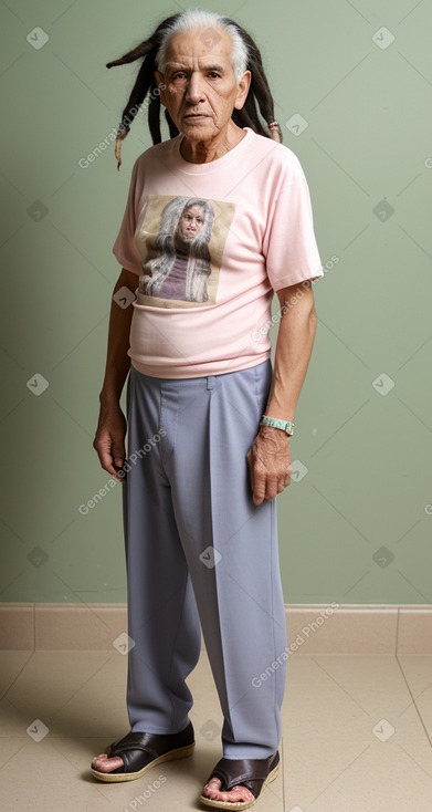
M 225 31 L 199 29 L 172 37 L 166 54 L 166 89 L 160 98 L 178 131 L 191 142 L 210 143 L 228 128 L 234 107 L 241 110 L 251 73 L 235 81 L 230 62 L 232 43 Z

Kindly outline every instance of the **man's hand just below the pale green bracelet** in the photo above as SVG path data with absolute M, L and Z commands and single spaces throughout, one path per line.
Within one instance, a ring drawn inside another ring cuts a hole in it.
M 255 504 L 274 499 L 291 482 L 289 436 L 280 428 L 261 426 L 247 451 L 252 498 Z

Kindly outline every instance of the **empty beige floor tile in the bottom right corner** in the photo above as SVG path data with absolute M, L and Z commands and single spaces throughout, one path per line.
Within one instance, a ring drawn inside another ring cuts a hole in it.
M 284 738 L 285 812 L 430 812 L 425 739 Z

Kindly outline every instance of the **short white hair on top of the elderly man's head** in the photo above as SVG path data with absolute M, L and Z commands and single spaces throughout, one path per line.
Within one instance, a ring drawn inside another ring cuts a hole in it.
M 186 9 L 182 11 L 175 22 L 169 25 L 164 34 L 159 51 L 155 58 L 155 64 L 160 73 L 164 73 L 166 66 L 167 49 L 171 38 L 177 33 L 185 31 L 197 31 L 204 29 L 203 35 L 211 40 L 214 38 L 214 29 L 225 31 L 231 38 L 232 50 L 230 62 L 232 64 L 235 81 L 239 82 L 247 65 L 247 45 L 232 22 L 217 11 L 208 11 L 207 9 Z

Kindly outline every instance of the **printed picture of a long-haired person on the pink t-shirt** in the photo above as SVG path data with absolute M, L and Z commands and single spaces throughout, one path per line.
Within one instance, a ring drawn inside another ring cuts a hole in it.
M 201 197 L 149 196 L 135 232 L 143 267 L 138 290 L 152 298 L 149 303 L 215 303 L 234 209 L 234 204 Z

